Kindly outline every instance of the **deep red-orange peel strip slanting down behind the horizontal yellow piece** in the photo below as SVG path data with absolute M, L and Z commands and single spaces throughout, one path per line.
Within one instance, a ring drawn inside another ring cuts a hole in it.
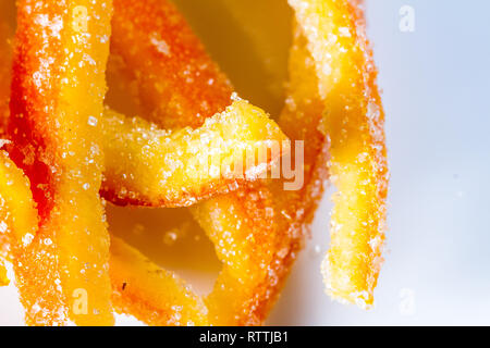
M 198 127 L 230 104 L 229 80 L 169 0 L 115 0 L 112 32 L 111 53 L 150 121 Z

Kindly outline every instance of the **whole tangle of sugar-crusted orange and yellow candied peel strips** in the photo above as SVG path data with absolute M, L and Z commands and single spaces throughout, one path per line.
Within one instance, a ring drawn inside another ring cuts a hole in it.
M 114 312 L 149 325 L 259 325 L 330 179 L 327 293 L 369 308 L 388 169 L 362 3 L 208 0 L 240 23 L 270 76 L 272 45 L 256 23 L 275 5 L 291 16 L 287 83 L 271 85 L 284 96 L 271 119 L 241 98 L 169 1 L 17 0 L 16 16 L 1 1 L 0 285 L 9 264 L 28 325 L 111 325 Z M 109 73 L 137 116 L 108 103 Z M 290 178 L 265 174 L 297 156 L 298 141 L 303 185 L 284 189 Z M 257 156 L 265 144 L 282 146 Z M 233 175 L 243 162 L 252 165 Z M 188 207 L 222 263 L 212 290 L 198 296 L 109 233 L 109 204 Z

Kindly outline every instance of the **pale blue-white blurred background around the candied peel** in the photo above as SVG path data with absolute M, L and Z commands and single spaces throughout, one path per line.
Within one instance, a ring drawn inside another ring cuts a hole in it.
M 324 199 L 269 323 L 490 324 L 490 2 L 367 4 L 391 169 L 389 252 L 376 309 L 323 295 L 315 247 L 328 247 Z M 414 33 L 399 29 L 404 4 L 415 9 Z M 14 290 L 0 288 L 0 325 L 19 323 Z

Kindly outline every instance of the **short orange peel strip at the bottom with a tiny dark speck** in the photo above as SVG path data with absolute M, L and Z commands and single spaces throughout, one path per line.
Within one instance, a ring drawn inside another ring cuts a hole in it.
M 203 300 L 182 279 L 117 237 L 111 238 L 110 274 L 119 312 L 149 325 L 209 325 Z

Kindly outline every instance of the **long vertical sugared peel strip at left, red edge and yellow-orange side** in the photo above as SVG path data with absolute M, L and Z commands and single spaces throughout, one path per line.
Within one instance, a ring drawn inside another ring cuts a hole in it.
M 40 215 L 14 264 L 27 324 L 113 323 L 100 126 L 90 122 L 103 109 L 111 13 L 111 1 L 17 2 L 10 152 Z

